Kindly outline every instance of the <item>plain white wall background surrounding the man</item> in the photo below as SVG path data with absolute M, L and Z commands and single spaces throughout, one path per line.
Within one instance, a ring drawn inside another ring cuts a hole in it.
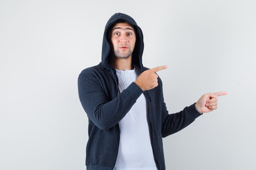
M 0 0 L 0 169 L 85 170 L 79 73 L 101 61 L 116 12 L 144 33 L 169 113 L 204 93 L 219 108 L 164 138 L 166 170 L 255 170 L 254 0 Z

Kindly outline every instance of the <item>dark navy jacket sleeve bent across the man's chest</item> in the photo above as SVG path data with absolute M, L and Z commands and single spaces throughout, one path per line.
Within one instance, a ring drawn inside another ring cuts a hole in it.
M 134 82 L 109 101 L 106 92 L 93 73 L 82 71 L 78 77 L 79 99 L 90 120 L 101 130 L 117 124 L 143 93 Z

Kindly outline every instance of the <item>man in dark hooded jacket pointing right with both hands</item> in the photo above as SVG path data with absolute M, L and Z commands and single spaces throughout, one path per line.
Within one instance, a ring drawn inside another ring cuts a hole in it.
M 167 66 L 144 67 L 143 49 L 135 20 L 116 13 L 105 27 L 101 63 L 79 75 L 79 98 L 89 119 L 87 170 L 165 170 L 162 137 L 216 109 L 216 97 L 227 94 L 205 94 L 168 114 L 156 74 Z

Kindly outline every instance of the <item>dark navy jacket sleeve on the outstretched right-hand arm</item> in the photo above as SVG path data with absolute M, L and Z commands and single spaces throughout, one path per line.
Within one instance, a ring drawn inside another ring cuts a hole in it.
M 159 79 L 161 90 L 162 81 Z M 166 104 L 164 103 L 164 95 L 162 91 L 162 137 L 167 137 L 176 133 L 186 126 L 189 126 L 200 114 L 196 108 L 195 103 L 191 106 L 185 107 L 182 111 L 178 113 L 168 114 Z

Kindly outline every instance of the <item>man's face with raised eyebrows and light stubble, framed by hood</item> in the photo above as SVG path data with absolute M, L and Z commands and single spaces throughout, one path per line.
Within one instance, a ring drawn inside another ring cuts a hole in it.
M 129 58 L 136 42 L 133 27 L 128 22 L 116 24 L 111 32 L 111 42 L 116 57 Z

